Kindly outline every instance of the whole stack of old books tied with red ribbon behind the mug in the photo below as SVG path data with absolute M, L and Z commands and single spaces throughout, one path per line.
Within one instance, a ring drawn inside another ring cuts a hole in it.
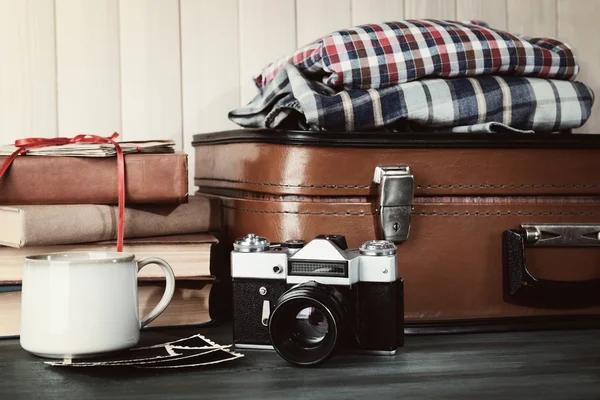
M 90 154 L 93 148 L 78 153 L 62 147 L 53 154 L 19 156 L 0 178 L 0 337 L 19 335 L 26 256 L 116 250 L 115 157 Z M 6 153 L 0 148 L 0 165 Z M 163 258 L 176 277 L 173 300 L 149 326 L 209 322 L 210 259 L 217 242 L 210 232 L 220 228 L 218 207 L 209 199 L 188 197 L 187 155 L 169 151 L 164 143 L 155 152 L 126 154 L 125 168 L 123 251 L 136 259 Z M 140 271 L 141 316 L 163 291 L 158 266 Z

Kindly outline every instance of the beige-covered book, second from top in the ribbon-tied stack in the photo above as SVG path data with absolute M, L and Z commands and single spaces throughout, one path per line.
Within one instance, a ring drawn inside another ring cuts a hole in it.
M 0 206 L 0 245 L 10 247 L 91 243 L 117 238 L 117 206 Z M 184 204 L 125 208 L 125 238 L 182 235 L 220 229 L 215 201 L 191 196 Z

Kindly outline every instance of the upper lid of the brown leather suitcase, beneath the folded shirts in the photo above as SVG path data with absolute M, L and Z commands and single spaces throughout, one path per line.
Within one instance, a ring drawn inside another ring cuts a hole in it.
M 417 197 L 600 195 L 595 135 L 238 129 L 195 135 L 193 146 L 206 193 L 372 201 L 377 167 L 406 166 Z

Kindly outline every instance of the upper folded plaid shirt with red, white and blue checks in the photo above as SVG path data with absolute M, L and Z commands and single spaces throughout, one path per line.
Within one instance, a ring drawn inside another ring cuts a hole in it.
M 573 79 L 579 72 L 571 48 L 561 41 L 517 37 L 479 21 L 430 19 L 333 32 L 265 67 L 256 85 L 265 87 L 288 63 L 338 89 L 492 74 Z

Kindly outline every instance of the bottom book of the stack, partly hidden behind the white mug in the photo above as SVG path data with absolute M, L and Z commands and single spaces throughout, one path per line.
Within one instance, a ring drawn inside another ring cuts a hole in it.
M 209 298 L 212 281 L 177 282 L 173 299 L 148 327 L 198 325 L 211 321 Z M 164 285 L 144 284 L 138 287 L 140 316 L 147 315 L 160 301 Z M 0 287 L 0 338 L 18 336 L 21 332 L 21 287 Z

